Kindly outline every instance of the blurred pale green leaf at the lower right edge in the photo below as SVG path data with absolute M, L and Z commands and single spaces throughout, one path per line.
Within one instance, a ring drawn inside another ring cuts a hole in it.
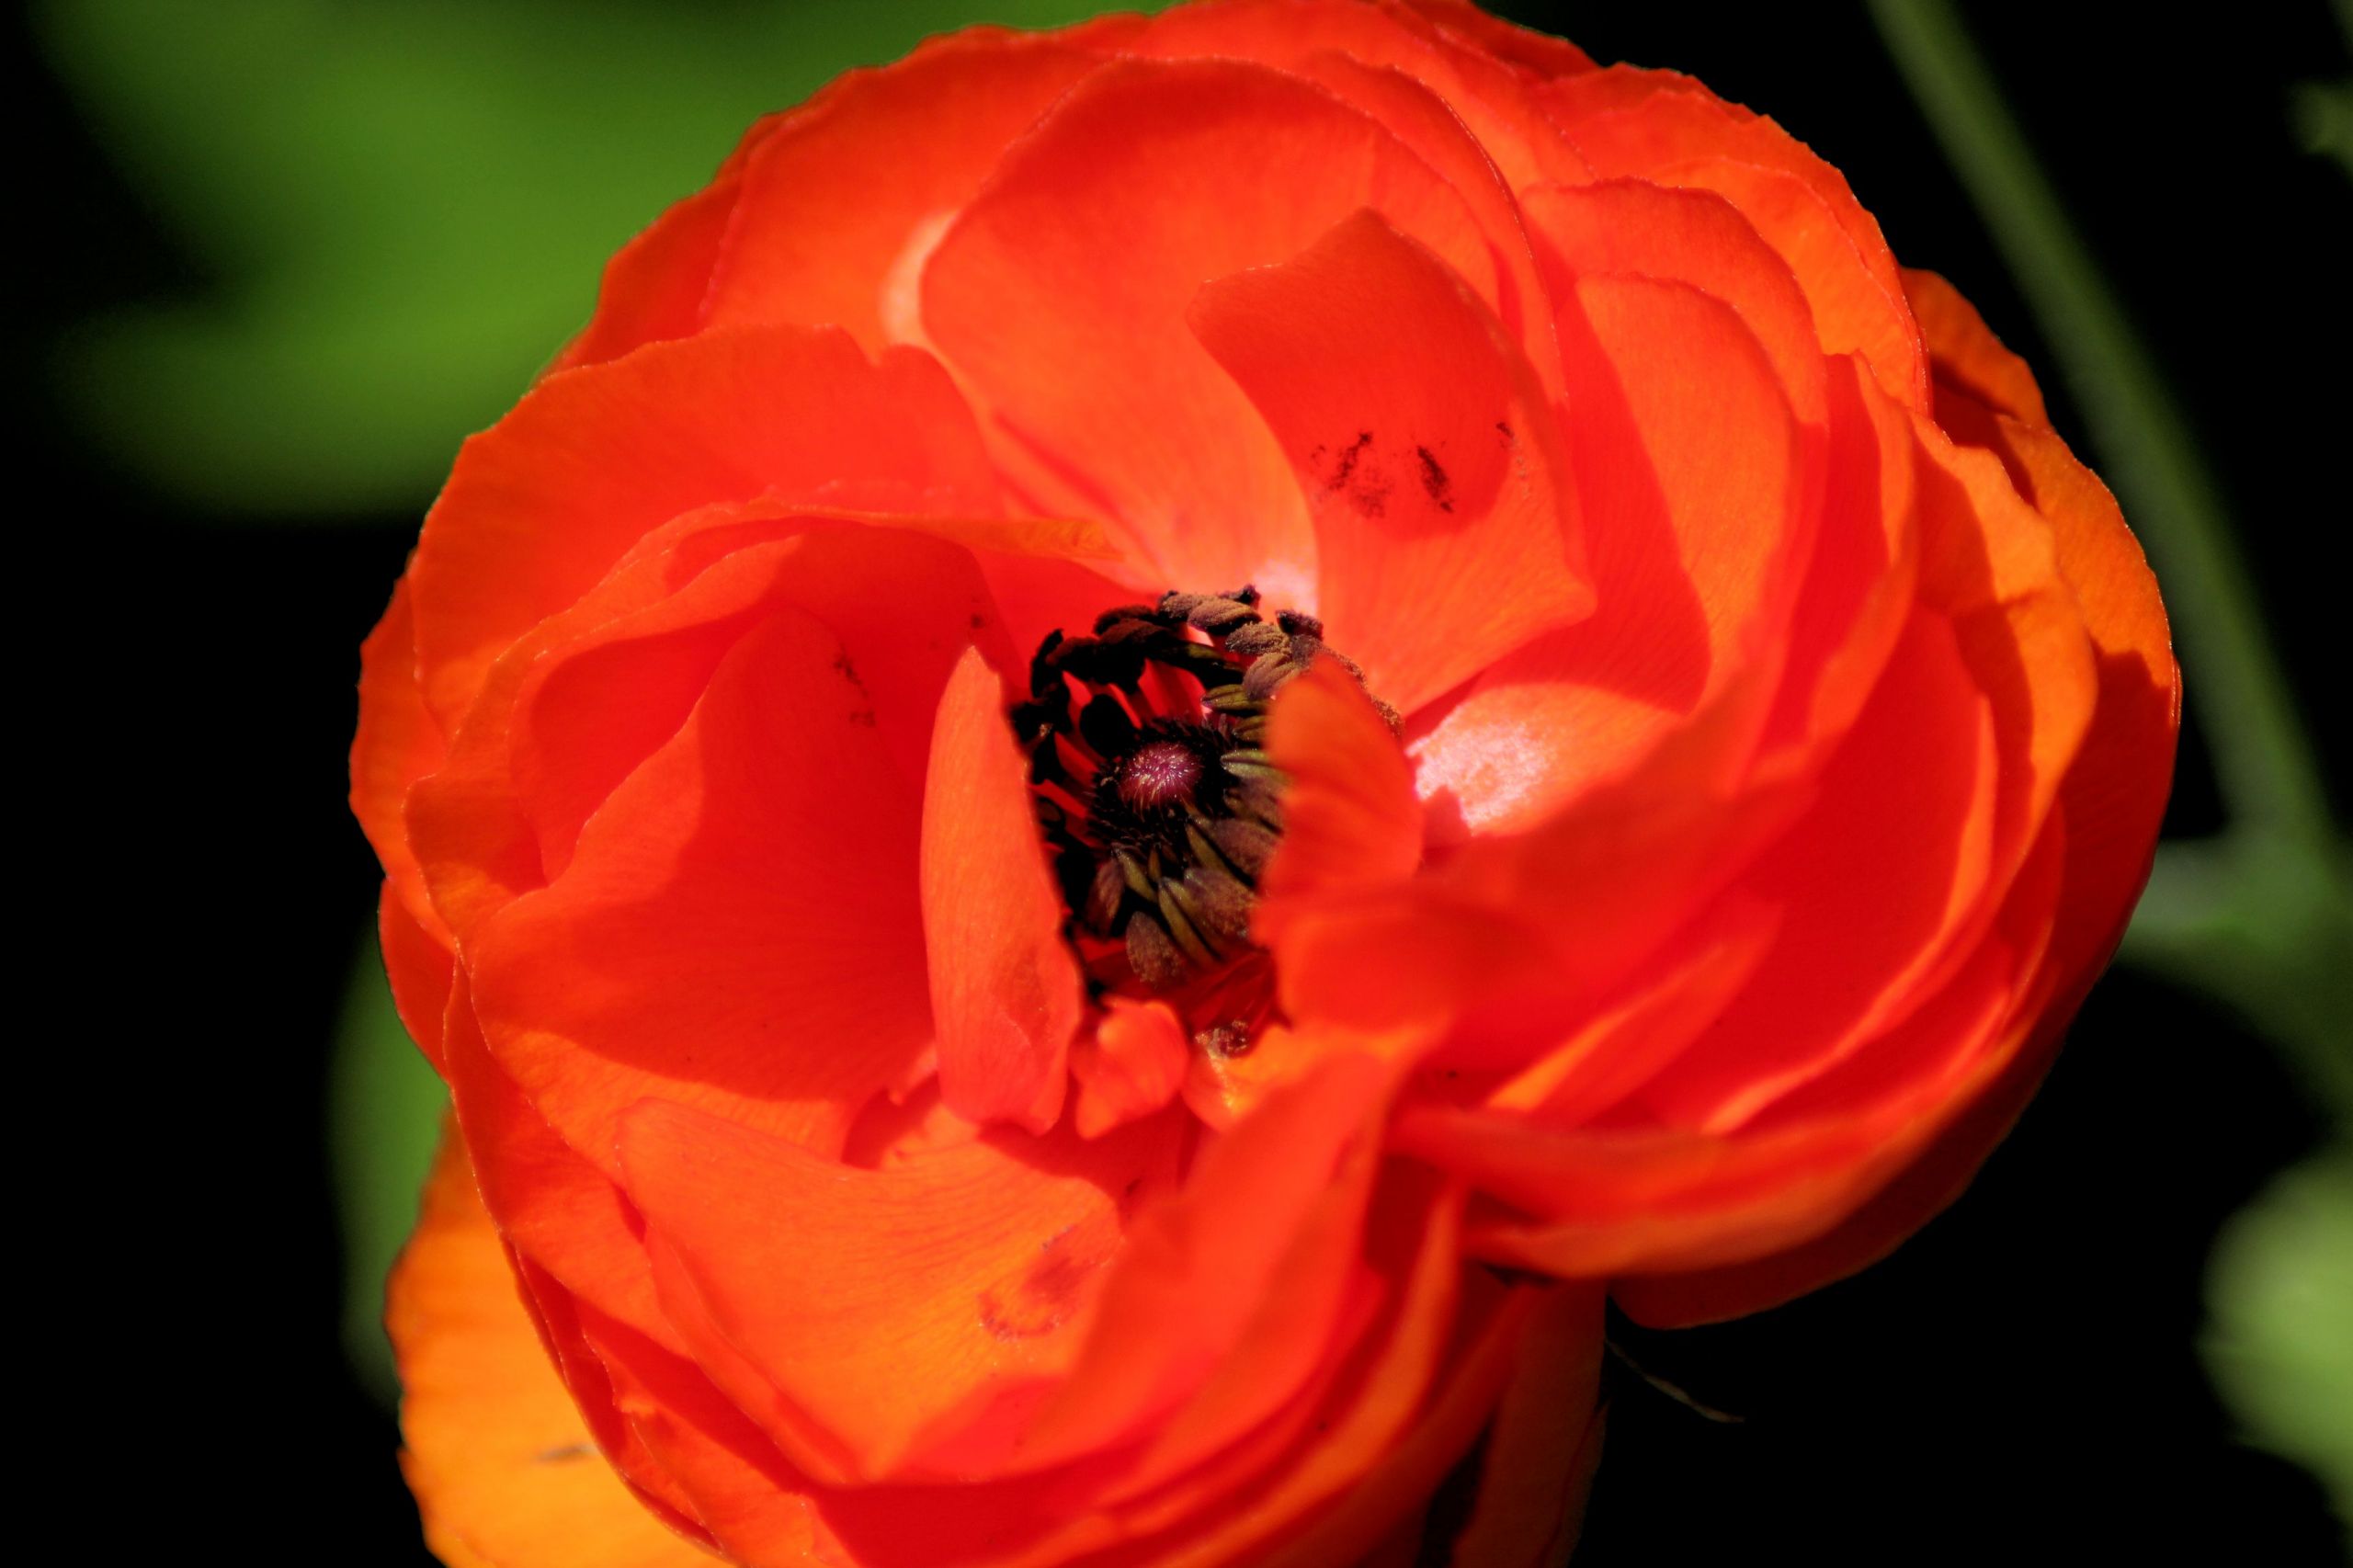
M 2353 1528 L 2353 1147 L 2231 1217 L 2207 1314 L 2207 1373 L 2247 1439 L 2320 1476 Z

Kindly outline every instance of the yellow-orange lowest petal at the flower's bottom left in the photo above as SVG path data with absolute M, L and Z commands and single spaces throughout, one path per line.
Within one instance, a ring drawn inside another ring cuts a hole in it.
M 456 1137 L 426 1184 L 386 1323 L 407 1389 L 400 1467 L 454 1568 L 701 1568 L 595 1450 L 515 1295 Z

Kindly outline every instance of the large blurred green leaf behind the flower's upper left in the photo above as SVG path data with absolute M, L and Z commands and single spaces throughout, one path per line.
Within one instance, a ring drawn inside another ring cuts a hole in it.
M 925 33 L 1085 0 L 52 0 L 40 35 L 214 287 L 68 344 L 59 391 L 224 511 L 416 509 L 760 113 Z

